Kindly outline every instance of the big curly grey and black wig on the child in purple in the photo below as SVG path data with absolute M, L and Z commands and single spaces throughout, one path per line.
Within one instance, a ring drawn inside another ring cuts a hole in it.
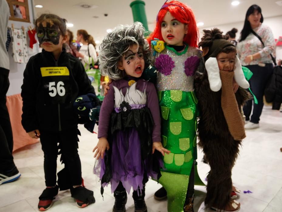
M 148 42 L 144 40 L 145 29 L 140 22 L 133 25 L 119 25 L 113 29 L 100 45 L 99 61 L 102 75 L 110 79 L 124 78 L 125 72 L 118 68 L 122 55 L 131 45 L 138 45 L 143 50 L 146 69 L 151 64 L 151 51 Z

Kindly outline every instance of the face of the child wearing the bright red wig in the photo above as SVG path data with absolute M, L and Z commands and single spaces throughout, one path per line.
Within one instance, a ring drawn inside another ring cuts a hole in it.
M 188 33 L 188 25 L 181 23 L 166 12 L 163 21 L 161 22 L 161 36 L 168 45 L 183 45 L 183 38 Z

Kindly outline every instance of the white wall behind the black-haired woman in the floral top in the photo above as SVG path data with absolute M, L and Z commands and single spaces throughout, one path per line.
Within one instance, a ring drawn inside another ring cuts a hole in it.
M 263 24 L 268 25 L 273 34 L 274 38 L 278 39 L 279 36 L 282 36 L 282 16 L 276 16 L 271 18 L 264 18 Z M 203 26 L 202 28 L 199 28 L 200 31 L 200 38 L 203 35 L 203 29 L 212 29 L 212 28 L 219 28 L 223 33 L 230 31 L 232 28 L 237 28 L 238 32 L 236 33 L 236 40 L 240 37 L 240 31 L 243 29 L 244 22 L 236 22 L 231 24 L 225 24 L 225 25 L 218 25 L 218 26 Z M 282 59 L 282 46 L 276 47 L 276 59 Z

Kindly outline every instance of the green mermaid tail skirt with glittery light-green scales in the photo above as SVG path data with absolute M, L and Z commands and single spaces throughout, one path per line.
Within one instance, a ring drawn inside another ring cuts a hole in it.
M 197 159 L 198 100 L 193 92 L 158 91 L 161 107 L 162 144 L 171 151 L 165 154 L 165 169 L 159 182 L 168 193 L 168 211 L 183 211 L 189 175 Z M 195 165 L 195 184 L 205 185 Z

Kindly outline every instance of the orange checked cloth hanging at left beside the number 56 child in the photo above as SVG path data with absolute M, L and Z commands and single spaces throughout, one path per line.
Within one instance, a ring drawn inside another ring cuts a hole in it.
M 21 94 L 7 96 L 7 108 L 10 115 L 14 148 L 13 151 L 29 144 L 34 144 L 39 139 L 33 139 L 25 132 L 22 127 L 22 97 Z

